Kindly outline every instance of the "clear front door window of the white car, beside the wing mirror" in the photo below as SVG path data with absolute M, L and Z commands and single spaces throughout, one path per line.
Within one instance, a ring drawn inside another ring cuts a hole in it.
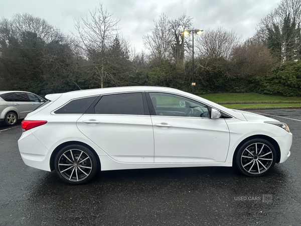
M 210 118 L 208 107 L 198 101 L 170 93 L 150 92 L 157 116 Z

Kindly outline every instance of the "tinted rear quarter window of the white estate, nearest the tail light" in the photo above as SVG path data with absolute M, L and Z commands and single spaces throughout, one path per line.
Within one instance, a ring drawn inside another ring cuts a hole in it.
M 98 96 L 91 96 L 81 99 L 71 100 L 60 109 L 54 111 L 55 114 L 84 114 L 88 107 L 96 100 Z

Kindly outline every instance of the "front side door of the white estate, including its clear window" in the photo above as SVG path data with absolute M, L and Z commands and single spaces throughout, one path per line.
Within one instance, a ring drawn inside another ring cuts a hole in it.
M 224 119 L 211 119 L 210 107 L 170 93 L 150 92 L 155 110 L 155 162 L 225 162 L 229 129 Z

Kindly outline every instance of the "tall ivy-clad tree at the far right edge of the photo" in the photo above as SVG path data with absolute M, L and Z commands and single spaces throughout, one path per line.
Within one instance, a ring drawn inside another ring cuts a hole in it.
M 256 38 L 265 43 L 281 63 L 299 60 L 301 0 L 282 0 L 261 19 Z

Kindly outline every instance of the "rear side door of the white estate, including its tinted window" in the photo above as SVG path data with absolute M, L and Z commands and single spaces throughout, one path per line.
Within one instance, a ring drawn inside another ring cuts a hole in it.
M 101 96 L 78 129 L 119 162 L 154 162 L 154 134 L 145 93 Z

